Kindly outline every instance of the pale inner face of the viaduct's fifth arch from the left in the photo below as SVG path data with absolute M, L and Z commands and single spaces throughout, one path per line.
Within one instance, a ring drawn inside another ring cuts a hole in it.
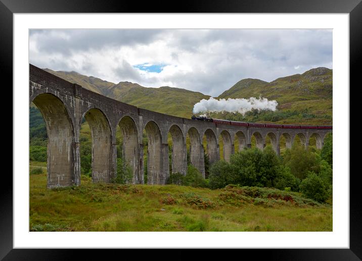
M 172 173 L 187 172 L 187 150 L 184 134 L 177 125 L 172 125 L 169 129 L 172 138 Z

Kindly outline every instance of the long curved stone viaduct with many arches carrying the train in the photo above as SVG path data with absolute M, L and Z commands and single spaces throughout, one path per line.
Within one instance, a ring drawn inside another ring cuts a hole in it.
M 144 184 L 143 130 L 148 135 L 148 184 L 166 183 L 169 177 L 167 137 L 172 137 L 172 172 L 186 175 L 186 137 L 190 137 L 190 161 L 205 177 L 203 137 L 210 163 L 220 159 L 218 137 L 223 139 L 223 158 L 230 160 L 234 141 L 239 150 L 251 147 L 251 137 L 263 149 L 268 136 L 280 153 L 280 138 L 290 148 L 296 137 L 304 146 L 314 136 L 317 148 L 331 129 L 284 129 L 215 124 L 137 108 L 80 85 L 63 80 L 29 64 L 29 104 L 34 103 L 46 122 L 48 132 L 48 188 L 80 185 L 79 130 L 85 117 L 92 134 L 93 182 L 111 182 L 116 177 L 116 131 L 123 136 L 122 157 L 133 170 L 133 183 Z

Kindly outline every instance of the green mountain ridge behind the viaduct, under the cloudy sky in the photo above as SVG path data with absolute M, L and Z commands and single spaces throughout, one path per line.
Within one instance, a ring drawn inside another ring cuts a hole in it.
M 85 76 L 75 71 L 44 70 L 112 99 L 179 117 L 191 117 L 194 105 L 202 99 L 210 98 L 210 96 L 200 92 L 181 88 L 169 86 L 146 88 L 138 83 L 129 81 L 113 83 L 94 76 Z M 323 115 L 332 118 L 332 80 L 333 70 L 325 67 L 313 68 L 302 74 L 280 77 L 270 82 L 246 78 L 238 81 L 216 98 L 248 99 L 250 97 L 263 97 L 276 100 L 279 111 L 307 110 L 314 115 L 314 118 L 308 121 L 310 124 L 331 124 L 332 120 L 323 118 Z M 287 119 L 283 122 L 297 121 L 298 119 L 290 121 Z

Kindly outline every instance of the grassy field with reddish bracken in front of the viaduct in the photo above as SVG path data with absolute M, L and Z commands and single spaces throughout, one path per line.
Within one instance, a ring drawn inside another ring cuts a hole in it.
M 30 175 L 30 231 L 332 231 L 332 206 L 266 188 L 92 184 Z

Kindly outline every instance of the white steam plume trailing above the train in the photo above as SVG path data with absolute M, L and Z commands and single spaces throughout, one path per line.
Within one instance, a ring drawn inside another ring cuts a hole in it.
M 209 100 L 202 99 L 200 102 L 194 105 L 193 113 L 199 112 L 240 112 L 244 114 L 251 109 L 258 110 L 272 110 L 275 111 L 277 109 L 278 102 L 268 101 L 266 98 L 258 98 L 250 97 L 249 99 L 232 99 L 228 98 L 228 100 L 220 99 L 216 100 L 210 97 Z

